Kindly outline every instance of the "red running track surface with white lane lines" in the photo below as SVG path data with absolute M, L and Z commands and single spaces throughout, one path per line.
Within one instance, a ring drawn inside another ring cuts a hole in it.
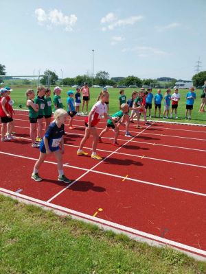
M 206 258 L 206 127 L 131 125 L 135 137 L 125 137 L 122 129 L 122 147 L 111 145 L 110 131 L 98 145 L 104 160 L 97 162 L 76 155 L 84 134 L 83 118 L 76 117 L 75 130 L 66 126 L 65 174 L 73 181 L 66 186 L 56 180 L 53 155 L 40 170 L 43 182 L 30 179 L 38 149 L 31 147 L 27 116 L 19 112 L 15 118 L 16 140 L 0 144 L 0 160 L 10 169 L 5 174 L 0 166 L 1 192 Z

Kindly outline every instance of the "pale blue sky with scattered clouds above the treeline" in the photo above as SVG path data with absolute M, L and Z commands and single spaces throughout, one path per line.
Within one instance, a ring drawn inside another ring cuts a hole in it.
M 191 79 L 206 70 L 205 0 L 1 0 L 0 63 L 8 75 Z M 62 71 L 62 73 L 61 73 Z

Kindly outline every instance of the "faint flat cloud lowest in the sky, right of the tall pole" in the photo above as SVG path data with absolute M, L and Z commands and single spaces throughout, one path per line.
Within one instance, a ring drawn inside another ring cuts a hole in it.
M 161 49 L 156 49 L 154 47 L 146 47 L 146 46 L 122 49 L 122 52 L 126 52 L 126 51 L 134 51 L 137 53 L 137 56 L 141 58 L 152 57 L 152 56 L 165 56 L 169 54 L 166 51 L 162 51 Z

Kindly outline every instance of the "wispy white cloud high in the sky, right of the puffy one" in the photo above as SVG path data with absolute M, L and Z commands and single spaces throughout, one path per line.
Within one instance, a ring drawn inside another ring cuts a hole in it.
M 109 14 L 112 14 L 108 16 Z M 137 21 L 141 21 L 144 16 L 130 16 L 124 19 L 118 19 L 113 13 L 109 13 L 101 19 L 101 23 L 108 23 L 105 27 L 102 27 L 102 31 L 105 32 L 107 29 L 113 30 L 115 27 L 124 27 L 126 25 L 134 25 Z M 113 22 L 113 23 L 111 23 Z

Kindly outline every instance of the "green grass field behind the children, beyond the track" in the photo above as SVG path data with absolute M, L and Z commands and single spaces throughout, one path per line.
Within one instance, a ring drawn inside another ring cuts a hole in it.
M 52 90 L 53 89 L 54 89 L 54 87 L 52 87 Z M 65 106 L 66 106 L 68 90 L 75 91 L 75 88 L 63 87 L 61 97 L 62 97 L 62 102 L 64 103 Z M 14 88 L 14 90 L 12 91 L 11 97 L 14 100 L 14 108 L 19 108 L 19 105 L 22 105 L 23 108 L 26 108 L 25 107 L 25 102 L 26 102 L 25 91 L 26 91 L 26 88 Z M 89 110 L 91 109 L 93 103 L 95 103 L 95 101 L 97 100 L 100 91 L 101 91 L 101 88 L 90 88 L 91 101 L 89 101 Z M 119 110 L 119 101 L 118 101 L 119 88 L 109 88 L 108 92 L 110 93 L 110 99 L 109 99 L 110 110 L 109 110 L 109 112 L 110 112 L 110 114 L 113 114 Z M 130 98 L 132 92 L 133 92 L 132 88 L 125 88 L 125 94 L 126 94 L 127 99 Z M 164 89 L 162 89 L 161 92 L 163 95 L 165 95 Z M 196 100 L 194 103 L 194 110 L 192 110 L 192 120 L 191 121 L 185 120 L 185 104 L 186 104 L 185 96 L 186 96 L 188 90 L 180 90 L 179 92 L 181 94 L 181 101 L 179 101 L 179 108 L 178 108 L 179 119 L 169 119 L 168 121 L 177 121 L 177 122 L 181 122 L 181 123 L 206 124 L 206 112 L 205 113 L 198 112 L 198 109 L 201 104 L 201 98 L 200 98 L 201 90 L 196 90 Z M 157 93 L 157 89 L 154 88 L 152 90 L 152 93 L 153 93 L 153 95 L 155 95 Z M 152 115 L 154 115 L 154 111 L 155 111 L 154 105 L 152 105 Z M 161 112 L 163 112 L 163 103 L 162 103 Z M 155 118 L 152 118 L 152 120 L 163 121 L 163 119 L 155 119 Z

